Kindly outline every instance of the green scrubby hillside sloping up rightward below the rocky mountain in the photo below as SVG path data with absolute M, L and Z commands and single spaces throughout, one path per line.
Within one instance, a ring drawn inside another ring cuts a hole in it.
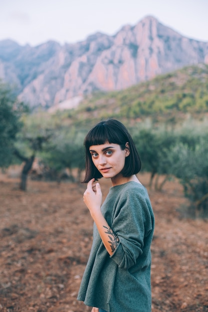
M 69 113 L 69 112 L 68 112 Z M 191 114 L 208 114 L 208 65 L 185 67 L 131 88 L 87 96 L 79 108 L 70 111 L 74 122 L 87 123 L 109 117 L 172 121 Z

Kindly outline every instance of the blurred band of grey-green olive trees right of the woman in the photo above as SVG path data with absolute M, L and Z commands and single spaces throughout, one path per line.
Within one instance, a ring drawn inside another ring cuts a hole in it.
M 144 171 L 151 172 L 150 187 L 162 190 L 166 180 L 179 178 L 190 201 L 192 217 L 208 217 L 208 123 L 185 123 L 167 130 L 142 129 L 134 134 Z M 158 185 L 159 175 L 165 179 Z

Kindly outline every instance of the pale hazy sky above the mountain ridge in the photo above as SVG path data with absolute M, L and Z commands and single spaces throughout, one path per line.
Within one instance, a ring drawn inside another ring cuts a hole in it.
M 75 43 L 97 31 L 113 35 L 147 15 L 208 42 L 208 0 L 0 0 L 0 40 Z

